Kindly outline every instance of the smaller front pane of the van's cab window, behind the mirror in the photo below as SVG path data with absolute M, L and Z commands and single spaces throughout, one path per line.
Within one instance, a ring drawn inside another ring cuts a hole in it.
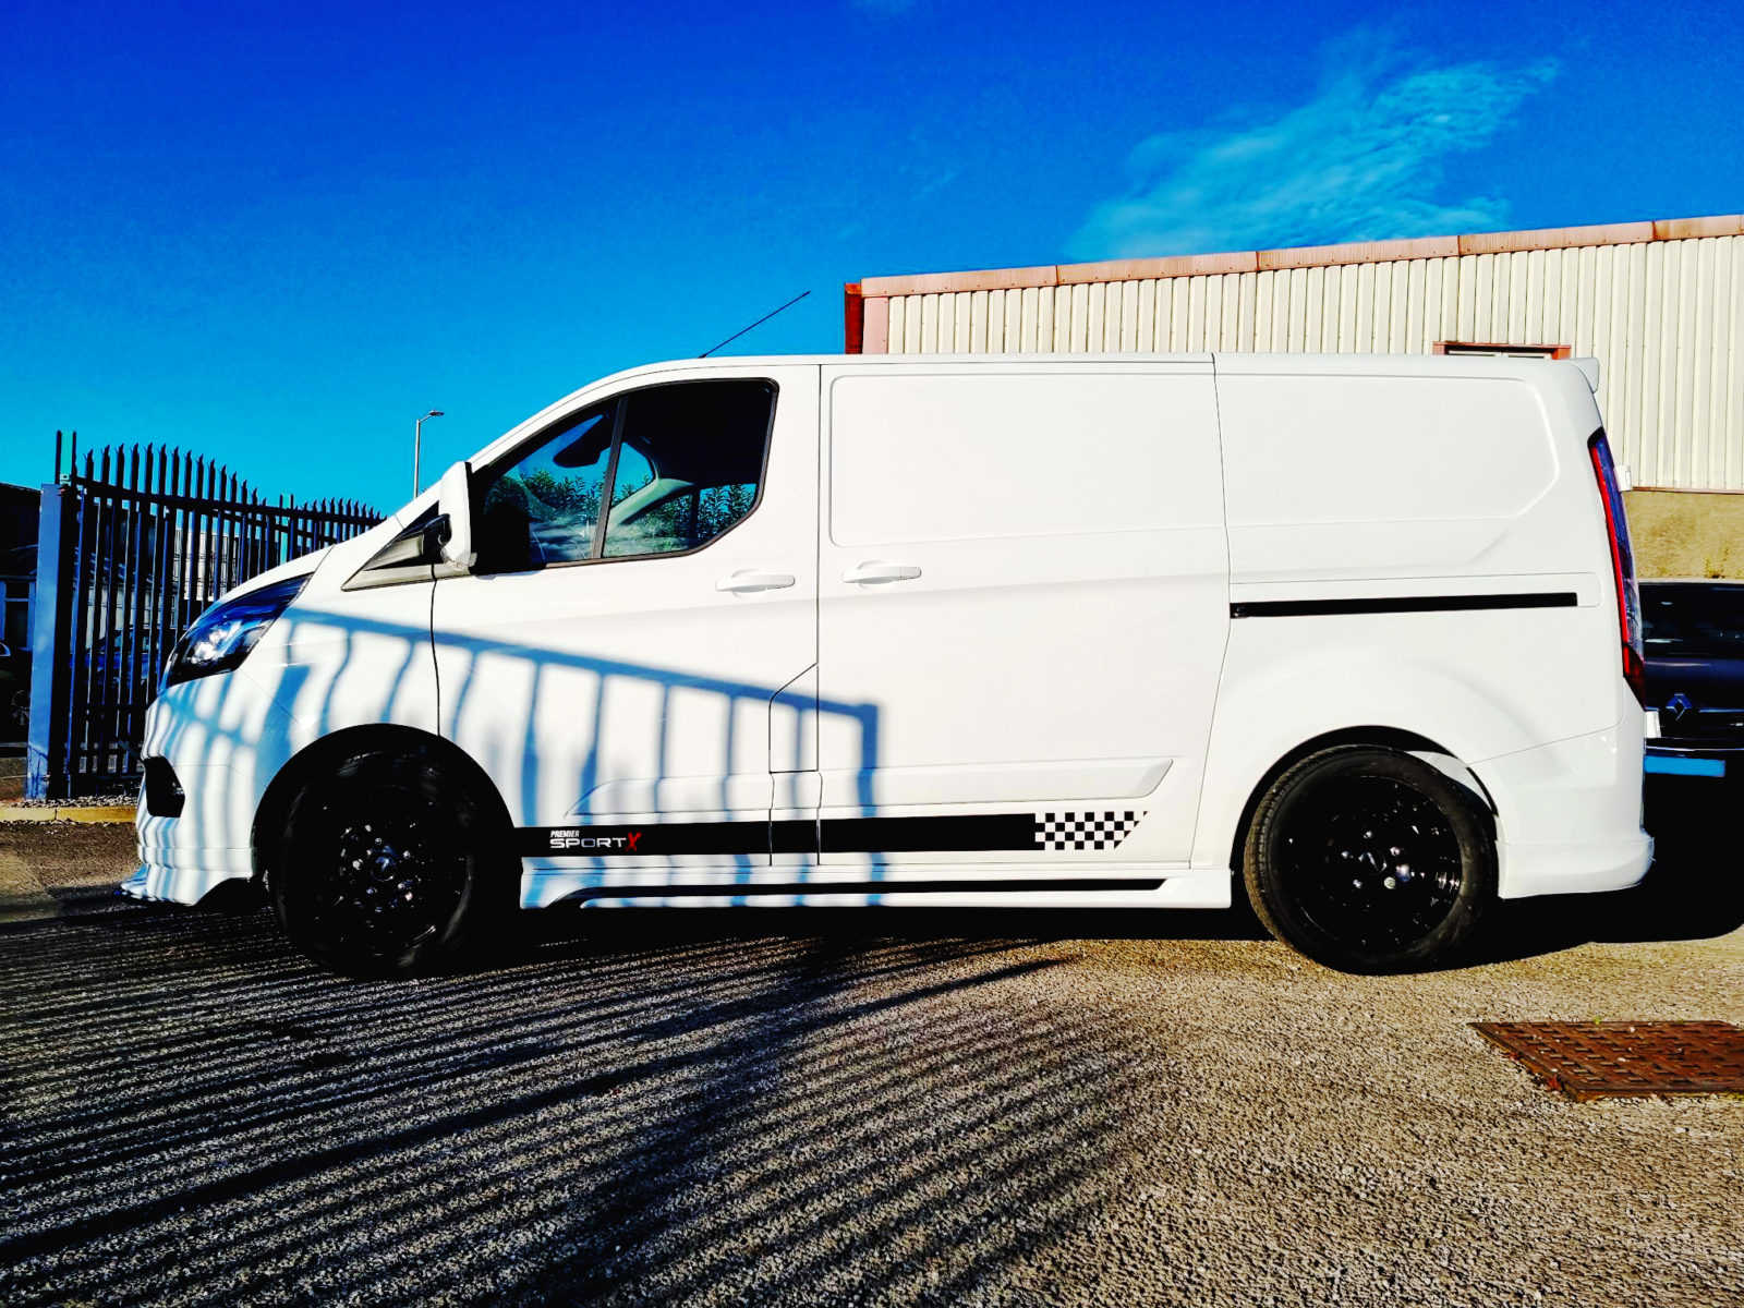
M 593 558 L 616 412 L 612 399 L 576 413 L 532 452 L 480 476 L 473 487 L 478 572 Z

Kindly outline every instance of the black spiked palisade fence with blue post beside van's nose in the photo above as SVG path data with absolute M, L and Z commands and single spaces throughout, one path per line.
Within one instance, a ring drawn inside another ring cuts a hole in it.
M 356 501 L 269 502 L 166 446 L 85 453 L 82 471 L 75 455 L 42 506 L 37 621 L 54 621 L 54 659 L 33 675 L 31 794 L 136 785 L 145 710 L 188 624 L 232 586 L 380 520 Z

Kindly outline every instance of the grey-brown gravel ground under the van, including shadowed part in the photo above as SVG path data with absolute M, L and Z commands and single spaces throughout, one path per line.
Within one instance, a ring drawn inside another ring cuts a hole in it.
M 415 984 L 14 924 L 0 1301 L 1739 1305 L 1744 1097 L 1564 1102 L 1468 1024 L 1744 1020 L 1741 875 L 1393 978 L 1240 914 L 546 916 Z

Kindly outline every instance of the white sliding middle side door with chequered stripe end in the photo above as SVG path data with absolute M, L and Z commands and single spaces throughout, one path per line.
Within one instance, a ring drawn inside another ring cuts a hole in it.
M 825 368 L 825 867 L 1184 863 L 1230 621 L 1210 361 Z

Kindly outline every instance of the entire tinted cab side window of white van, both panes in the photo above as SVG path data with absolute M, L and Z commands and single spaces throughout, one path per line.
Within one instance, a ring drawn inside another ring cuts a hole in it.
M 476 570 L 706 544 L 757 502 L 773 410 L 773 382 L 731 378 L 656 385 L 567 419 L 476 476 Z

